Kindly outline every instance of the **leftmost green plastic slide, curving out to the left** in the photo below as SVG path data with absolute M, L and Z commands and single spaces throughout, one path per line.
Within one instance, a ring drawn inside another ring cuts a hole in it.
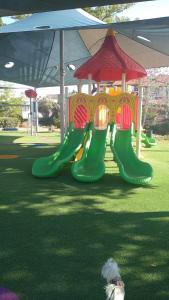
M 75 129 L 71 124 L 58 150 L 52 155 L 39 158 L 34 162 L 32 175 L 39 178 L 56 176 L 82 146 L 86 130 L 87 126 L 85 129 Z

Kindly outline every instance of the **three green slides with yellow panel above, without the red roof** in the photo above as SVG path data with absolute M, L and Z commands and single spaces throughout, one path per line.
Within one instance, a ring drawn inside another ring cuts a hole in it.
M 80 93 L 70 97 L 69 101 L 70 126 L 64 142 L 54 154 L 36 160 L 32 174 L 36 177 L 57 176 L 64 165 L 73 160 L 71 173 L 76 180 L 99 180 L 105 173 L 106 138 L 111 132 L 110 147 L 120 176 L 132 184 L 150 182 L 151 166 L 140 161 L 132 148 L 131 124 L 127 129 L 123 128 L 122 122 L 115 125 L 117 112 L 123 112 L 126 107 L 130 111 L 131 122 L 136 124 L 136 96 L 128 93 L 117 96 Z

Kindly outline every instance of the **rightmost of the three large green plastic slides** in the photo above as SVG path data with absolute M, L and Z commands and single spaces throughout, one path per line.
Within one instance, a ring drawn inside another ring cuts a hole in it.
M 113 135 L 113 133 L 112 133 Z M 139 160 L 132 147 L 131 129 L 117 130 L 111 140 L 111 149 L 118 164 L 120 176 L 137 185 L 148 184 L 153 176 L 150 164 Z

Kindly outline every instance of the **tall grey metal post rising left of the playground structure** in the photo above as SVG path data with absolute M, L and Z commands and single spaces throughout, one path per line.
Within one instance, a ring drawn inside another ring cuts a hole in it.
M 64 31 L 60 31 L 60 130 L 61 130 L 61 143 L 64 139 Z

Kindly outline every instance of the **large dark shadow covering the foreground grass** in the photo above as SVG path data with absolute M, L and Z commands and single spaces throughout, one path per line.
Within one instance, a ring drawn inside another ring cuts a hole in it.
M 35 200 L 0 211 L 1 286 L 24 300 L 101 300 L 100 268 L 113 256 L 126 299 L 168 299 L 169 213 L 105 212 L 86 199 L 59 214 L 57 202 L 39 207 Z

